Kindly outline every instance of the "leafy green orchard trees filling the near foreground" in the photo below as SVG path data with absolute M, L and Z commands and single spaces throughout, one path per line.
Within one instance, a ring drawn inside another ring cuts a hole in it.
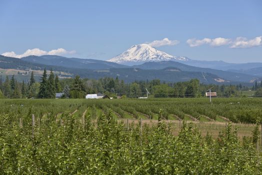
M 91 122 L 62 113 L 0 114 L 0 174 L 261 174 L 258 125 L 240 141 L 231 124 L 216 139 L 183 123 L 125 125 L 109 112 Z M 19 125 L 18 117 L 23 124 Z M 59 117 L 59 118 L 57 118 Z M 63 122 L 57 122 L 57 119 Z M 32 132 L 33 130 L 33 132 Z M 33 136 L 34 135 L 34 136 Z

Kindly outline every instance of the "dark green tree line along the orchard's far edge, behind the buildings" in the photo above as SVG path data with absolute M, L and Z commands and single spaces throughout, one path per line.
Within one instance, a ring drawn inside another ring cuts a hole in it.
M 125 83 L 118 77 L 103 77 L 100 79 L 80 78 L 76 75 L 74 78 L 59 79 L 52 70 L 47 74 L 44 69 L 39 82 L 34 78 L 31 72 L 28 82 L 18 82 L 14 75 L 9 79 L 6 76 L 5 81 L 0 76 L 0 97 L 5 98 L 55 98 L 55 93 L 63 93 L 63 98 L 84 98 L 90 93 L 104 93 L 110 97 L 140 97 L 146 96 L 146 89 L 152 97 L 201 97 L 205 96 L 207 89 L 212 87 L 212 91 L 217 93 L 218 97 L 239 96 L 240 90 L 250 89 L 241 84 L 237 85 L 217 85 L 203 84 L 198 79 L 191 79 L 183 82 L 165 82 L 159 79 L 139 80 L 131 83 Z M 262 83 L 255 81 L 255 95 L 262 97 Z

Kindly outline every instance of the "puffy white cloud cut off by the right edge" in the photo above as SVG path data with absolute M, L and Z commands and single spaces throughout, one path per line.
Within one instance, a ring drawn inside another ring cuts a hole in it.
M 262 45 L 262 36 L 257 36 L 253 39 L 247 40 L 246 37 L 237 37 L 230 48 L 248 48 Z

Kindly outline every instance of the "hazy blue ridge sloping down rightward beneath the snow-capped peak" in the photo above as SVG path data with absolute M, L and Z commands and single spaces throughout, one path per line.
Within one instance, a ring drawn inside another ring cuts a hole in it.
M 256 78 L 256 76 L 249 75 L 249 74 L 223 71 L 223 70 L 217 70 L 211 68 L 195 67 L 176 61 L 145 62 L 140 65 L 133 65 L 133 67 L 142 68 L 142 69 L 162 69 L 169 66 L 177 67 L 182 71 L 198 71 L 198 72 L 212 73 L 212 74 L 216 74 L 219 77 L 224 78 L 224 80 L 229 80 L 229 81 L 251 82 Z

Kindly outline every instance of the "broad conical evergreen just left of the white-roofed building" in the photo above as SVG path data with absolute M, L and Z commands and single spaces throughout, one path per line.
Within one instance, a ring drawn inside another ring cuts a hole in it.
M 83 85 L 82 80 L 80 79 L 80 76 L 76 75 L 72 88 L 70 89 L 70 97 L 71 98 L 84 98 L 85 88 Z

